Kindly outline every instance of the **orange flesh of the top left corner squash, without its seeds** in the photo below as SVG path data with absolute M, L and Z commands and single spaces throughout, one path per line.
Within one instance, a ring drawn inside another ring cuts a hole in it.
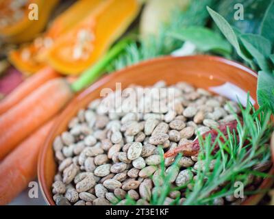
M 4 2 L 4 3 L 3 3 Z M 13 16 L 16 12 L 10 11 L 10 2 L 12 0 L 7 0 L 1 2 L 0 14 L 2 14 L 2 19 L 6 19 L 9 16 Z M 36 3 L 38 6 L 38 20 L 29 19 L 29 4 Z M 21 43 L 32 40 L 40 31 L 45 28 L 49 16 L 55 5 L 59 3 L 59 0 L 28 0 L 23 7 L 23 17 L 10 25 L 0 27 L 0 35 L 5 42 Z M 42 10 L 40 10 L 42 8 Z

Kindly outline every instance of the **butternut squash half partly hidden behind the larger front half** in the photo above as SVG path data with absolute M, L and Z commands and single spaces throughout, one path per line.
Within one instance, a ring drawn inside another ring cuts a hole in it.
M 10 53 L 9 59 L 23 73 L 36 73 L 45 66 L 45 54 L 53 42 L 82 21 L 103 0 L 78 0 L 51 23 L 42 36 Z

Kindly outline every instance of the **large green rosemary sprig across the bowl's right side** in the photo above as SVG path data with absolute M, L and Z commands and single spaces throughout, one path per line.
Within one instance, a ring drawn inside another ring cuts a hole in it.
M 214 145 L 211 145 L 210 136 L 206 140 L 200 139 L 203 150 L 199 153 L 198 161 L 202 161 L 205 168 L 197 171 L 197 178 L 195 182 L 192 181 L 193 190 L 187 190 L 188 195 L 184 205 L 212 204 L 215 198 L 234 194 L 236 181 L 247 185 L 246 179 L 249 179 L 249 175 L 262 177 L 260 172 L 253 170 L 253 166 L 270 159 L 269 146 L 264 147 L 264 145 L 269 142 L 273 131 L 273 124 L 269 125 L 271 112 L 263 112 L 262 108 L 255 110 L 249 104 L 245 109 L 241 107 L 241 114 L 243 124 L 238 120 L 237 131 L 242 134 L 236 140 L 236 133 L 229 133 L 224 143 L 217 138 L 220 150 L 215 155 L 211 154 Z M 243 146 L 244 142 L 249 144 Z M 210 172 L 208 166 L 213 160 L 215 165 Z M 266 177 L 266 175 L 263 176 Z M 212 193 L 223 183 L 226 185 L 222 190 Z

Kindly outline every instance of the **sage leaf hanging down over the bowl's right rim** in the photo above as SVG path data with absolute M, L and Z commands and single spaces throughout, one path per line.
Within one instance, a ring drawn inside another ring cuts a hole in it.
M 257 99 L 260 106 L 269 105 L 274 110 L 274 77 L 263 70 L 258 73 Z

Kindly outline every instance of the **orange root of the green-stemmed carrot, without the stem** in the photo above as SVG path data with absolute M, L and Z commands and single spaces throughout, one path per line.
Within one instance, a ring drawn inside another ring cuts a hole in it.
M 0 160 L 55 116 L 72 98 L 64 79 L 52 79 L 0 116 Z

